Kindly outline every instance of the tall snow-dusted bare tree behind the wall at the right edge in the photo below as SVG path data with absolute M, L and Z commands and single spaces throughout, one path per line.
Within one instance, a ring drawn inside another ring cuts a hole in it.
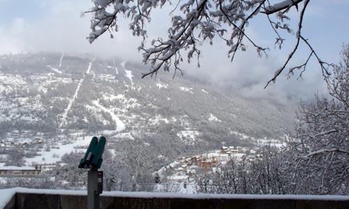
M 349 45 L 341 55 L 327 79 L 332 97 L 316 95 L 313 104 L 300 109 L 297 136 L 288 146 L 295 193 L 349 193 Z

